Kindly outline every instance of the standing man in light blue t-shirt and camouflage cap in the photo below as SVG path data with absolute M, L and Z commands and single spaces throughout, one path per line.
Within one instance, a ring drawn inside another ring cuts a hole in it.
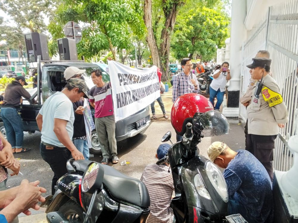
M 81 97 L 89 98 L 85 81 L 71 78 L 61 92 L 46 99 L 36 117 L 41 131 L 41 156 L 54 172 L 52 194 L 55 193 L 57 180 L 67 173 L 67 160 L 71 157 L 75 160 L 84 159 L 72 143 L 75 120 L 72 103 Z

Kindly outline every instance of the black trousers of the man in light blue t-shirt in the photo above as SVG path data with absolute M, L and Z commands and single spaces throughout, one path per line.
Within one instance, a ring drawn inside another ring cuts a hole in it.
M 41 143 L 40 153 L 54 172 L 52 179 L 52 195 L 54 195 L 58 179 L 67 173 L 66 162 L 71 158 L 71 152 L 66 147 L 47 147 L 48 149 L 46 147 Z

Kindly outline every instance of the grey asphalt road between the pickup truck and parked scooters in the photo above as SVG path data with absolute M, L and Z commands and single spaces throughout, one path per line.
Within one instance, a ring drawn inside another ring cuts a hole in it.
M 207 148 L 214 141 L 226 142 L 232 149 L 243 149 L 244 148 L 244 131 L 243 123 L 239 123 L 238 119 L 229 119 L 230 123 L 230 134 L 225 136 L 216 137 L 205 137 L 202 142 L 198 145 L 200 153 L 203 156 L 207 156 Z M 132 138 L 126 139 L 122 142 L 117 143 L 118 156 L 120 161 L 126 160 L 130 164 L 126 166 L 120 166 L 114 164 L 113 167 L 131 177 L 140 178 L 144 167 L 147 164 L 156 162 L 155 153 L 156 149 L 161 143 L 160 140 L 162 136 L 167 132 L 171 131 L 172 141 L 176 141 L 176 134 L 171 125 L 170 120 L 165 120 L 160 118 L 158 120 L 153 120 L 143 135 L 137 135 Z M 49 165 L 43 161 L 39 152 L 41 134 L 39 132 L 29 135 L 24 135 L 24 147 L 31 148 L 30 152 L 16 154 L 15 158 L 21 158 L 21 172 L 22 175 L 9 177 L 7 181 L 7 186 L 17 186 L 20 184 L 21 180 L 26 178 L 29 181 L 40 180 L 40 186 L 47 189 L 46 195 L 50 194 L 51 191 L 51 180 L 53 172 Z M 170 142 L 169 142 L 170 143 Z M 101 156 L 95 155 L 91 160 L 100 161 Z M 109 163 L 109 165 L 112 165 Z

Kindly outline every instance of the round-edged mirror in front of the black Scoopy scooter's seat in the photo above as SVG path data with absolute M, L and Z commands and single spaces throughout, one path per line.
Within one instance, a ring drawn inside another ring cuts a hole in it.
M 85 193 L 93 193 L 97 189 L 101 191 L 103 189 L 103 174 L 104 169 L 99 163 L 89 164 L 82 177 L 82 191 Z

